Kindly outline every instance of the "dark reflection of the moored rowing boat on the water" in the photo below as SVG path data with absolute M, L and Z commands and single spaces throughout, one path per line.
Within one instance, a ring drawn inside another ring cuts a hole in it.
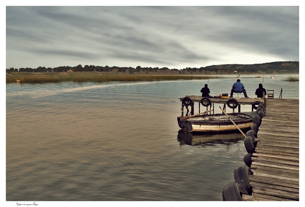
M 232 145 L 244 139 L 240 132 L 226 133 L 190 133 L 183 129 L 178 131 L 177 141 L 180 145 L 207 147 L 215 144 Z

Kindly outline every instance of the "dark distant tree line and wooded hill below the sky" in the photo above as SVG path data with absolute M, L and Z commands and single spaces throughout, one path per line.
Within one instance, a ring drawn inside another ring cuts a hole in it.
M 46 68 L 39 66 L 38 68 L 9 68 L 6 72 L 108 72 L 113 75 L 117 74 L 148 74 L 148 75 L 172 75 L 172 74 L 232 74 L 232 73 L 299 73 L 299 61 L 272 62 L 263 64 L 241 65 L 241 64 L 226 64 L 226 65 L 211 65 L 200 68 L 186 67 L 183 69 L 152 68 L 152 67 L 109 67 L 95 65 L 77 65 L 59 66 L 56 68 Z

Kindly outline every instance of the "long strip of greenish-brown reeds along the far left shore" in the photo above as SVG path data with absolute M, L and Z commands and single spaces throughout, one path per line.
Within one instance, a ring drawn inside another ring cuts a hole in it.
M 6 83 L 47 83 L 47 82 L 113 82 L 113 81 L 162 81 L 162 80 L 193 80 L 214 79 L 219 76 L 202 75 L 9 75 Z M 19 81 L 17 81 L 19 80 Z

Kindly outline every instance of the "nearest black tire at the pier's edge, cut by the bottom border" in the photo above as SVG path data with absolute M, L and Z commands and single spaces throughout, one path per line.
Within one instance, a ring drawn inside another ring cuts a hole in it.
M 222 190 L 223 201 L 242 201 L 242 194 L 249 195 L 242 185 L 232 182 L 226 184 Z

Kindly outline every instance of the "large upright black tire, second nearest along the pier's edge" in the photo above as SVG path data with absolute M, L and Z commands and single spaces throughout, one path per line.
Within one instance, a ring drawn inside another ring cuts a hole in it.
M 253 174 L 252 170 L 246 165 L 240 165 L 234 168 L 234 180 L 236 183 L 244 187 L 249 195 L 252 194 L 250 186 L 249 174 Z

